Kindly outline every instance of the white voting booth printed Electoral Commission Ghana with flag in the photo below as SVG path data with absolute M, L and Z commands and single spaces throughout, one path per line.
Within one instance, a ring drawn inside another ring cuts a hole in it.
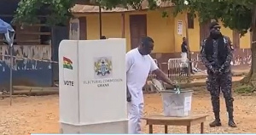
M 61 41 L 61 133 L 128 133 L 125 48 L 120 38 Z

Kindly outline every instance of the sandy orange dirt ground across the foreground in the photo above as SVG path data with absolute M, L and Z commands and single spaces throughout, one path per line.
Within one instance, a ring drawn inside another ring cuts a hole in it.
M 255 133 L 256 132 L 256 96 L 235 95 L 235 120 L 237 128 L 227 126 L 224 100 L 221 100 L 221 118 L 223 127 L 208 127 L 212 117 L 212 107 L 208 93 L 195 93 L 193 113 L 205 113 L 207 117 L 206 133 Z M 59 109 L 58 95 L 42 97 L 14 98 L 9 106 L 9 98 L 0 99 L 0 132 L 3 135 L 26 135 L 29 133 L 58 133 Z M 162 113 L 160 94 L 145 94 L 144 115 Z M 143 132 L 148 126 L 143 121 Z M 2 133 L 3 132 L 3 133 Z M 169 127 L 170 133 L 185 133 L 186 127 Z M 193 133 L 200 133 L 199 126 L 193 126 Z M 164 133 L 163 127 L 154 126 L 154 133 Z

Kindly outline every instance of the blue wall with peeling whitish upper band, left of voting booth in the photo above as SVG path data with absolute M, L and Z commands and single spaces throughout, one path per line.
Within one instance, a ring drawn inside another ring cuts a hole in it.
M 51 47 L 46 45 L 14 46 L 13 83 L 15 86 L 50 87 L 52 70 L 49 62 L 38 60 L 51 59 Z M 9 89 L 9 49 L 0 46 L 0 82 L 1 88 Z M 22 59 L 27 58 L 27 59 Z M 34 60 L 37 59 L 37 60 Z

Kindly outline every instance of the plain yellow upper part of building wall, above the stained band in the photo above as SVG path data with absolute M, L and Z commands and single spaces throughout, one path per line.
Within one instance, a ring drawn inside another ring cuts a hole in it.
M 154 53 L 178 53 L 181 51 L 180 45 L 182 38 L 186 37 L 186 13 L 178 14 L 174 18 L 169 14 L 167 18 L 162 17 L 162 10 L 156 11 L 134 11 L 125 13 L 125 38 L 127 42 L 127 51 L 131 49 L 131 35 L 129 15 L 147 14 L 147 34 L 154 39 Z M 99 38 L 99 15 L 83 14 L 87 20 L 87 39 Z M 103 13 L 102 14 L 102 35 L 111 37 L 122 37 L 123 23 L 122 13 Z M 182 35 L 177 34 L 177 22 L 183 22 Z M 189 46 L 192 52 L 200 50 L 200 25 L 197 18 L 194 19 L 194 29 L 189 29 Z M 233 32 L 225 28 L 222 23 L 222 33 L 233 40 Z M 250 34 L 240 39 L 240 48 L 250 48 Z

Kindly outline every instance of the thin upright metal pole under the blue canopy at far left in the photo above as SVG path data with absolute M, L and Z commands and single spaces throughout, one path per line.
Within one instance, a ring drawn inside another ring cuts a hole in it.
M 10 68 L 9 68 L 9 105 L 12 105 L 12 99 L 13 99 L 13 43 L 11 43 L 9 47 L 9 53 L 10 53 Z

